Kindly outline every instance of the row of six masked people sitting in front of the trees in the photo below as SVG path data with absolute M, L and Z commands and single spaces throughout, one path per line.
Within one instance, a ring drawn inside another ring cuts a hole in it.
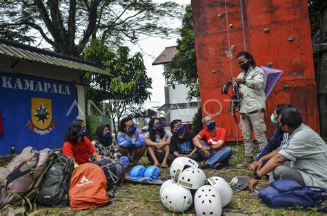
M 232 156 L 232 150 L 226 146 L 226 130 L 217 128 L 210 116 L 203 119 L 204 129 L 195 135 L 180 119 L 171 122 L 168 130 L 157 117 L 150 119 L 145 135 L 136 128 L 133 119 L 121 119 L 117 141 L 110 133 L 110 126 L 98 126 L 91 141 L 86 136 L 88 130 L 83 120 L 72 121 L 66 132 L 63 154 L 72 157 L 76 166 L 88 161 L 115 159 L 125 167 L 130 162 L 139 164 L 145 152 L 155 166 L 168 167 L 177 157 L 190 157 L 199 161 L 201 168 L 221 168 Z M 174 133 L 174 134 L 172 134 Z

